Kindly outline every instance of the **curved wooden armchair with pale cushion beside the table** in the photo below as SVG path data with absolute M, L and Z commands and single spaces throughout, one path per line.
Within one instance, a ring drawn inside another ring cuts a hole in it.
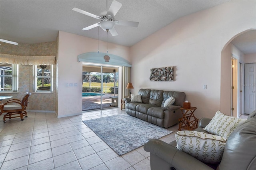
M 28 117 L 26 107 L 28 106 L 28 98 L 30 97 L 31 93 L 24 93 L 22 98 L 19 99 L 10 99 L 6 103 L 0 104 L 0 115 L 3 113 L 6 113 L 4 115 L 4 123 L 6 123 L 6 118 L 15 118 L 20 117 L 20 119 L 23 121 L 23 117 Z

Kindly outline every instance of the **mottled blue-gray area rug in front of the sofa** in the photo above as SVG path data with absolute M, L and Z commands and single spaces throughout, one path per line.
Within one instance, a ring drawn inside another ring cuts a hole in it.
M 129 115 L 114 115 L 83 121 L 118 155 L 126 154 L 150 138 L 161 138 L 172 131 Z

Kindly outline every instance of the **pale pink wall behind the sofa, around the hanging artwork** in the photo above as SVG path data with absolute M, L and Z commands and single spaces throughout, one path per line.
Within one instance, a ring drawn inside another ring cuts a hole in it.
M 184 91 L 198 108 L 198 118 L 227 110 L 220 93 L 221 83 L 230 84 L 231 74 L 222 72 L 230 60 L 221 63 L 222 49 L 234 36 L 255 27 L 256 1 L 231 1 L 176 20 L 131 47 L 132 93 L 140 88 Z M 166 66 L 175 66 L 174 82 L 149 81 L 151 68 Z

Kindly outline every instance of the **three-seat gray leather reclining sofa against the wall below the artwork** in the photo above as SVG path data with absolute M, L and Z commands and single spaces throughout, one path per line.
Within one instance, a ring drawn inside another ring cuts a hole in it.
M 182 117 L 180 107 L 185 101 L 184 92 L 140 89 L 138 95 L 141 95 L 142 103 L 124 99 L 128 115 L 165 128 L 177 124 Z M 171 96 L 175 98 L 174 104 L 164 107 L 164 102 Z

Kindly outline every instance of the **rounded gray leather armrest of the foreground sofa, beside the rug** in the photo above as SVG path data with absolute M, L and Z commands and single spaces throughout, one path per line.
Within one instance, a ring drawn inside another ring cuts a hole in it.
M 147 140 L 144 144 L 144 150 L 150 152 L 150 155 L 154 154 L 164 160 L 176 170 L 213 170 L 200 160 L 159 139 Z M 150 156 L 150 162 L 153 161 L 151 159 L 152 156 Z M 161 165 L 158 166 L 158 168 L 160 167 Z

